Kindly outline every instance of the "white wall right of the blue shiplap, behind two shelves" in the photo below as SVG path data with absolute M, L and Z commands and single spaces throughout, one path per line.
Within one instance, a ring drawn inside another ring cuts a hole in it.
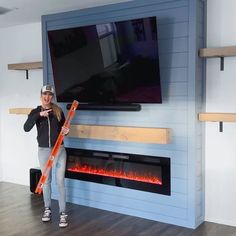
M 236 45 L 236 1 L 208 0 L 207 46 Z M 206 111 L 236 112 L 236 57 L 207 59 Z M 236 226 L 236 123 L 206 123 L 206 220 Z

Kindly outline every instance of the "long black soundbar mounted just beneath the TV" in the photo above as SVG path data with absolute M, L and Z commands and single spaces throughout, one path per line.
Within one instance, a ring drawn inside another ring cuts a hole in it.
M 67 104 L 66 108 L 69 110 L 71 107 L 71 103 Z M 140 104 L 80 104 L 77 110 L 94 110 L 94 111 L 140 111 L 141 105 Z

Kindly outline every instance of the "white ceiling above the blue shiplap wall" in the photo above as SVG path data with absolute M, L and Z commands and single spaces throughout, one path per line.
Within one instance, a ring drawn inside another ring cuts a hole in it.
M 42 15 L 78 10 L 130 0 L 0 0 L 0 28 L 40 22 Z

